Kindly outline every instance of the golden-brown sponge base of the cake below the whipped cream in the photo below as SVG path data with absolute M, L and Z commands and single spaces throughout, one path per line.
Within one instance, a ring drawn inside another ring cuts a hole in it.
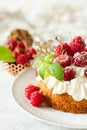
M 45 97 L 47 105 L 54 109 L 71 112 L 71 113 L 87 113 L 87 100 L 75 101 L 72 96 L 67 93 L 52 94 L 52 89 L 48 89 L 42 81 L 38 85 Z

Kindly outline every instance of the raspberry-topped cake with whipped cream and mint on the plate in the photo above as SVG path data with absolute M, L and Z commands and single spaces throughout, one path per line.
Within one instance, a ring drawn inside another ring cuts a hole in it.
M 71 113 L 87 113 L 87 49 L 81 36 L 56 46 L 55 54 L 36 62 L 38 86 L 47 105 Z

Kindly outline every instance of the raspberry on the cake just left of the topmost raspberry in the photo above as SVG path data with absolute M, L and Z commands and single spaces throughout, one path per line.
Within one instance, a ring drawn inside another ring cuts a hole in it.
M 69 56 L 73 56 L 74 52 L 71 50 L 70 46 L 67 43 L 61 43 L 56 46 L 56 56 L 67 53 Z

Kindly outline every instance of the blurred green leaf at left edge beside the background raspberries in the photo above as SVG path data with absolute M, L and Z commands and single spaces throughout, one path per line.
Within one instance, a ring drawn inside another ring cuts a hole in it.
M 15 62 L 16 59 L 10 49 L 0 46 L 0 61 Z

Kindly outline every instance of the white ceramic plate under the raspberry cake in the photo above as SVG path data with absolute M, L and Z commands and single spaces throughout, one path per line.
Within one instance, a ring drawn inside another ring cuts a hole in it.
M 33 107 L 24 95 L 24 88 L 31 83 L 37 84 L 35 81 L 35 70 L 29 68 L 16 78 L 12 86 L 14 99 L 25 111 L 49 124 L 68 128 L 87 128 L 87 114 L 71 114 L 48 107 Z

